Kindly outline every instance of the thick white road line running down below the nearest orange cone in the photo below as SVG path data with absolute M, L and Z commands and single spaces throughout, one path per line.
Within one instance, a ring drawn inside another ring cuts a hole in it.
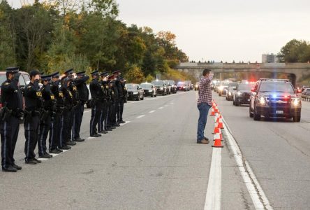
M 213 148 L 212 151 L 208 188 L 205 195 L 205 210 L 221 209 L 221 151 L 222 148 Z

